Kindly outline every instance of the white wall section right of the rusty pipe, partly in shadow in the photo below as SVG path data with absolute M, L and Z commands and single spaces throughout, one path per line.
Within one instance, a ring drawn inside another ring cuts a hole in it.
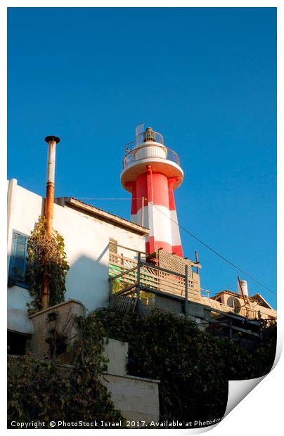
M 65 240 L 70 264 L 67 297 L 82 301 L 91 310 L 106 306 L 109 295 L 109 239 L 113 238 L 125 247 L 145 251 L 144 237 L 59 205 L 54 205 L 53 226 Z M 123 249 L 120 252 L 130 257 L 131 252 Z

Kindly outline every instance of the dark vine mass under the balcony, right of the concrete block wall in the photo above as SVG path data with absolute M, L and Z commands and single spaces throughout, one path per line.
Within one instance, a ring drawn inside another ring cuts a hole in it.
M 131 375 L 160 380 L 160 421 L 222 418 L 228 380 L 264 376 L 276 352 L 276 324 L 264 325 L 263 342 L 249 350 L 158 309 L 148 316 L 97 311 L 91 321 L 101 321 L 106 337 L 129 343 Z

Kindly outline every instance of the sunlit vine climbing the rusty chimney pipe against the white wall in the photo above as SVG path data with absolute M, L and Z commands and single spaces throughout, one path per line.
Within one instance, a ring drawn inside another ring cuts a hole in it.
M 27 303 L 30 314 L 38 312 L 41 307 L 41 288 L 44 274 L 49 277 L 50 300 L 53 306 L 65 299 L 65 279 L 69 269 L 64 251 L 64 239 L 58 231 L 53 230 L 52 236 L 46 234 L 46 218 L 39 217 L 31 232 L 27 245 L 27 277 L 30 282 L 32 301 Z

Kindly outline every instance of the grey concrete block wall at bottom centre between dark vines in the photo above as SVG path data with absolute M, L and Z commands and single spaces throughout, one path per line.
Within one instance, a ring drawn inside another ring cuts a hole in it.
M 112 393 L 115 409 L 122 412 L 127 421 L 160 420 L 159 380 L 134 376 L 105 374 L 103 384 Z

